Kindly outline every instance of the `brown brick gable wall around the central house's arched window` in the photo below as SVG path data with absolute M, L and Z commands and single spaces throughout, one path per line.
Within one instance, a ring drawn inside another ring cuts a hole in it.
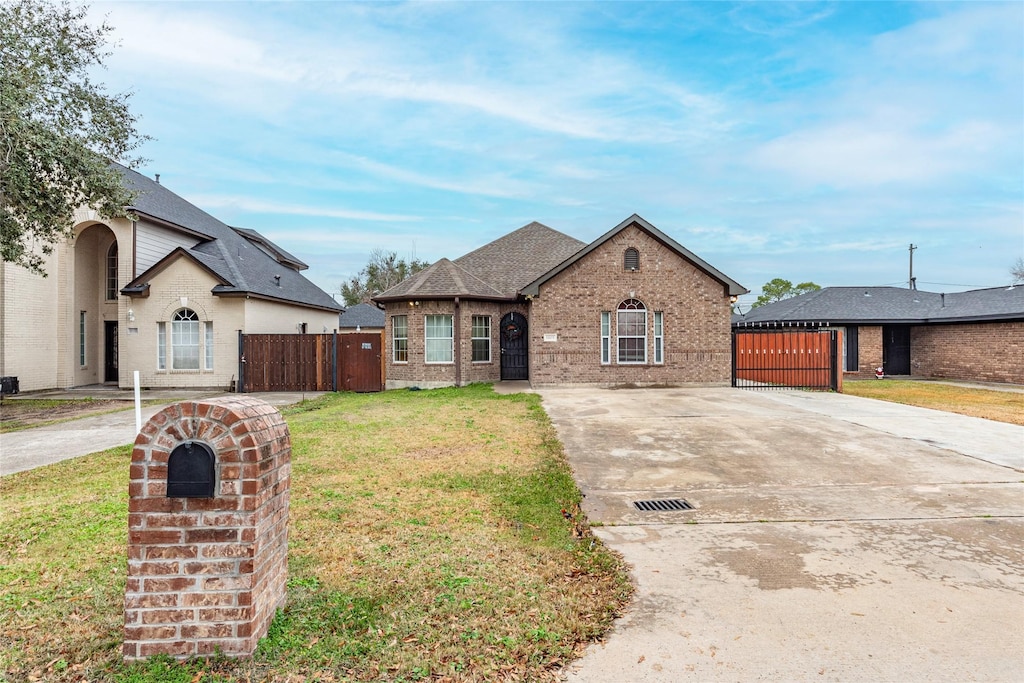
M 626 270 L 628 248 L 640 253 Z M 647 309 L 647 362 L 617 365 L 618 304 Z M 601 311 L 612 318 L 612 362 L 601 365 Z M 654 311 L 665 314 L 665 362 L 653 361 Z M 730 380 L 731 332 L 725 287 L 634 226 L 622 230 L 541 288 L 529 311 L 534 384 L 680 384 Z M 557 341 L 544 341 L 545 334 Z

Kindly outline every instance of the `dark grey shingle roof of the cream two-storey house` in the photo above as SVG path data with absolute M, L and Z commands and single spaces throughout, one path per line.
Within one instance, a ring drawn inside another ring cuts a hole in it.
M 189 250 L 196 258 L 225 283 L 212 291 L 218 295 L 250 294 L 313 308 L 341 310 L 330 294 L 306 280 L 298 270 L 305 264 L 255 230 L 232 228 L 189 204 L 164 185 L 131 169 L 115 164 L 129 189 L 136 193 L 130 209 L 200 239 Z M 278 252 L 276 257 L 269 252 Z M 148 281 L 142 272 L 125 289 L 139 289 Z M 280 276 L 280 280 L 279 280 Z

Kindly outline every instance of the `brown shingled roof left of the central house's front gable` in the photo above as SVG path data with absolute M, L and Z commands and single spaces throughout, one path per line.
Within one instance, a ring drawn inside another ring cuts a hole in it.
M 455 261 L 442 258 L 374 301 L 514 299 L 521 288 L 584 247 L 574 238 L 532 222 Z

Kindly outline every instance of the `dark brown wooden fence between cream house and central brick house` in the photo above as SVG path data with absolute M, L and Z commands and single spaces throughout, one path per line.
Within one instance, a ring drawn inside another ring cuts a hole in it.
M 381 333 L 239 333 L 238 390 L 382 391 L 383 342 Z

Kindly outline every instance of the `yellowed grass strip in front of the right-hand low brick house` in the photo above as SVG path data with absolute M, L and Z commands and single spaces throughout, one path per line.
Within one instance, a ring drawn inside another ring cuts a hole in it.
M 891 400 L 896 403 L 1024 425 L 1024 393 L 1019 392 L 912 380 L 846 382 L 843 392 L 851 396 Z

